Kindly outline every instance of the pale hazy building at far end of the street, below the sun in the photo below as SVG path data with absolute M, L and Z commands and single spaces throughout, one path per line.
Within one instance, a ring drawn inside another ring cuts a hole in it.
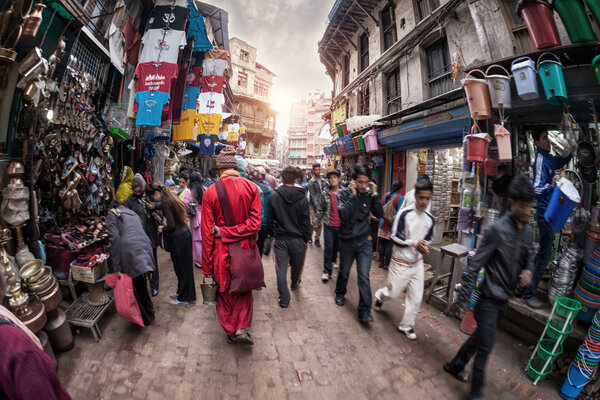
M 321 116 L 329 110 L 331 99 L 317 90 L 290 109 L 288 128 L 289 165 L 301 168 L 321 162 L 323 147 L 329 144 L 329 135 L 322 131 L 326 123 Z

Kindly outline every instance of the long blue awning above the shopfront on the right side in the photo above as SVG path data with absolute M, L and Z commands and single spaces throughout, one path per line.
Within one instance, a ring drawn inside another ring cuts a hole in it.
M 377 136 L 379 144 L 393 151 L 460 145 L 469 124 L 469 108 L 462 107 L 385 129 Z

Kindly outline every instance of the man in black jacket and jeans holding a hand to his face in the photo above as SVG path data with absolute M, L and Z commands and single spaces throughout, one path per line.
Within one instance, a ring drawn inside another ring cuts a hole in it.
M 340 271 L 335 287 L 335 304 L 344 305 L 346 286 L 350 267 L 356 260 L 358 276 L 358 319 L 366 323 L 373 321 L 371 316 L 372 296 L 369 273 L 373 258 L 371 244 L 370 216 L 377 219 L 383 217 L 381 198 L 377 186 L 371 181 L 371 169 L 357 164 L 352 174 L 352 181 L 338 195 L 338 213 L 342 220 L 340 228 Z

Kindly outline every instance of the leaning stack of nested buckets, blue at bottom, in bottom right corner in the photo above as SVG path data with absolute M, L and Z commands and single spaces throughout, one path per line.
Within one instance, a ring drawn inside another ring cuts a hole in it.
M 569 367 L 560 396 L 565 400 L 576 398 L 594 375 L 598 363 L 600 363 L 600 313 L 594 316 L 588 334 Z

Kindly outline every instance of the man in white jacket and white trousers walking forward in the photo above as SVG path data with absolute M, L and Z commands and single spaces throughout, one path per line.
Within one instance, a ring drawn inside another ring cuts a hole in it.
M 390 235 L 394 249 L 387 286 L 375 292 L 374 308 L 379 311 L 384 297 L 398 298 L 402 292 L 407 291 L 404 316 L 398 330 L 411 340 L 417 338 L 413 327 L 423 299 L 423 255 L 429 253 L 429 242 L 435 226 L 433 216 L 427 212 L 432 194 L 431 181 L 428 178 L 419 179 L 415 185 L 414 204 L 396 214 Z

